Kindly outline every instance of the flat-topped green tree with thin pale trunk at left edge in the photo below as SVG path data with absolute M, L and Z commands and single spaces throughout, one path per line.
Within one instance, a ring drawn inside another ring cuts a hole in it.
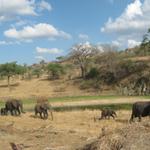
M 21 74 L 23 71 L 22 67 L 23 66 L 21 65 L 17 65 L 16 62 L 5 63 L 0 65 L 0 75 L 7 77 L 8 87 L 10 87 L 10 78 L 13 75 Z

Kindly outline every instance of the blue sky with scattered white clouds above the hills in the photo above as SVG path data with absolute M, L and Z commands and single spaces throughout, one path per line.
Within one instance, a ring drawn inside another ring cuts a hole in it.
M 0 0 L 0 63 L 54 60 L 76 43 L 140 44 L 150 0 Z

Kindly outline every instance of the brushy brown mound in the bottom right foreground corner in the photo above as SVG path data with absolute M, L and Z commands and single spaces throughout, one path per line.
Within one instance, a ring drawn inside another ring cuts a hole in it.
M 85 143 L 76 150 L 149 150 L 149 122 L 128 124 L 114 132 L 102 130 L 97 139 Z

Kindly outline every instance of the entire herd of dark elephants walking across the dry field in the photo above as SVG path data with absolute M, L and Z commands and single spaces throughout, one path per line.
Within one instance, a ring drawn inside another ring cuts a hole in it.
M 48 101 L 37 101 L 37 104 L 34 107 L 35 116 L 39 114 L 41 119 L 48 118 L 48 110 L 51 112 L 51 118 L 53 120 L 52 107 L 49 105 Z M 1 115 L 7 115 L 9 112 L 12 116 L 20 115 L 21 113 L 25 113 L 23 110 L 23 103 L 17 99 L 10 99 L 5 102 L 5 106 L 0 109 Z M 149 116 L 150 117 L 150 101 L 146 102 L 135 102 L 132 105 L 132 114 L 130 118 L 130 122 L 134 120 L 134 118 L 138 117 L 139 121 L 141 121 L 142 117 Z M 115 119 L 117 114 L 114 110 L 111 109 L 103 109 L 101 111 L 101 117 L 98 117 L 98 120 L 106 119 L 112 117 Z M 96 120 L 96 118 L 94 118 Z

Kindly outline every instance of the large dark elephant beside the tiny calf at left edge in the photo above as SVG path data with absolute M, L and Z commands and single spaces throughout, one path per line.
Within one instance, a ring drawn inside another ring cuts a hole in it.
M 11 115 L 20 115 L 23 111 L 23 103 L 17 99 L 7 100 L 5 103 L 6 114 L 10 111 Z

